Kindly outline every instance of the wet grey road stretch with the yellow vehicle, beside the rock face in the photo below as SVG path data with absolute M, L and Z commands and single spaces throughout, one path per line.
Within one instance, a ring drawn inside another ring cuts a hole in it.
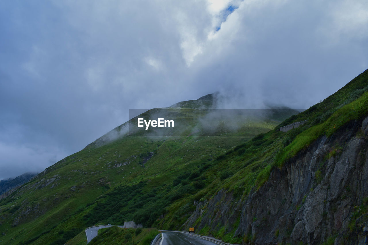
M 162 231 L 162 237 L 160 245 L 223 245 L 220 242 L 208 241 L 183 232 Z

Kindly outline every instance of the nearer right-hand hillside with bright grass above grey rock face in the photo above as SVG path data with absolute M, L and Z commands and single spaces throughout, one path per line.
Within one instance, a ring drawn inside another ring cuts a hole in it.
M 194 226 L 201 234 L 246 244 L 359 244 L 368 224 L 367 91 L 368 70 L 323 102 L 218 157 L 211 174 L 226 169 L 233 175 L 202 190 L 185 223 L 174 228 Z M 163 227 L 180 214 L 170 210 L 158 221 Z

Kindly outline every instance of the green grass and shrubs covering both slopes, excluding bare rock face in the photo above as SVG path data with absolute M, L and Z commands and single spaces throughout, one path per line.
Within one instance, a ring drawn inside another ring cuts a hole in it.
M 85 244 L 86 227 L 122 225 L 131 220 L 144 227 L 181 230 L 195 210 L 194 203 L 202 202 L 201 209 L 206 213 L 206 201 L 220 190 L 231 193 L 234 200 L 244 200 L 252 188 L 262 187 L 273 168 L 282 167 L 319 137 L 331 136 L 367 115 L 367 81 L 365 71 L 306 111 L 295 116 L 284 111 L 256 116 L 241 122 L 235 131 L 221 126 L 209 132 L 198 126 L 198 118 L 205 116 L 205 111 L 195 109 L 202 103 L 198 101 L 181 102 L 180 110 L 168 109 L 172 116 L 185 121 L 187 128 L 181 129 L 184 136 L 143 136 L 135 132 L 110 139 L 109 135 L 123 135 L 127 123 L 120 125 L 0 200 L 0 241 L 79 245 Z M 208 98 L 206 105 L 210 104 Z M 280 123 L 275 118 L 287 119 Z M 298 128 L 279 131 L 282 126 L 304 120 L 308 121 Z M 173 130 L 175 135 L 177 129 Z M 334 146 L 326 160 L 338 156 L 342 149 Z M 324 170 L 318 169 L 315 180 L 321 182 L 323 174 Z M 212 234 L 227 242 L 251 241 L 256 237 L 251 232 L 233 237 L 238 218 L 231 226 L 218 224 L 215 230 L 212 224 L 206 225 L 199 234 Z M 200 220 L 194 222 L 195 228 Z M 145 237 L 151 239 L 154 231 L 149 235 L 151 230 L 115 227 L 101 230 L 97 239 L 99 244 L 113 244 L 116 237 L 126 244 L 144 244 Z

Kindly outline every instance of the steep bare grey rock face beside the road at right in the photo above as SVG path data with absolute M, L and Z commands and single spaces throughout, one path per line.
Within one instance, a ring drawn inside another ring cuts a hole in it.
M 368 231 L 368 117 L 321 137 L 247 198 L 226 190 L 204 202 L 183 225 L 220 224 L 244 244 L 365 244 Z M 240 221 L 239 221 L 240 219 Z M 232 231 L 233 228 L 236 231 Z M 363 242 L 363 243 L 362 243 Z

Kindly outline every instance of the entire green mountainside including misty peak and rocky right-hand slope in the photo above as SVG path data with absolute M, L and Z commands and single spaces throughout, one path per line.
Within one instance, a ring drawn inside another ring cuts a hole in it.
M 213 110 L 216 95 L 148 110 L 0 200 L 0 242 L 85 244 L 86 227 L 133 220 L 238 244 L 358 244 L 367 85 L 368 70 L 301 113 Z M 160 116 L 178 127 L 131 127 Z

